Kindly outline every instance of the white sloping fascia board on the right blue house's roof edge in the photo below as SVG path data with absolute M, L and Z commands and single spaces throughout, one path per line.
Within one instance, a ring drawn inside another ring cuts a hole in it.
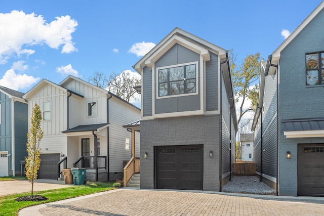
M 310 21 L 324 8 L 324 1 L 321 2 L 310 15 L 282 42 L 282 44 L 272 53 L 273 57 L 280 57 L 280 53 L 287 45 L 308 25 Z

